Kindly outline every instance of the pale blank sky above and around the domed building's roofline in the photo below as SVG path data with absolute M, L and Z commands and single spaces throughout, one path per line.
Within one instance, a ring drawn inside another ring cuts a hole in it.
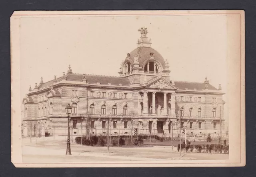
M 73 73 L 119 76 L 120 63 L 148 28 L 152 48 L 168 59 L 170 77 L 222 85 L 227 92 L 224 15 L 23 17 L 20 19 L 22 98 L 35 83 Z M 224 100 L 226 100 L 224 95 Z M 227 111 L 226 111 L 227 112 Z

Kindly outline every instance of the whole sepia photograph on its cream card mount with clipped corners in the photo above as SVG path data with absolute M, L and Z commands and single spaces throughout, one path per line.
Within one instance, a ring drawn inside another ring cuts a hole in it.
M 245 165 L 244 11 L 16 11 L 16 167 Z

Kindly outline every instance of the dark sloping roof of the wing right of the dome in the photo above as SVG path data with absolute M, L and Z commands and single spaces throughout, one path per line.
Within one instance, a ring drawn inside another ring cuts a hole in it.
M 204 83 L 194 83 L 194 82 L 185 82 L 185 81 L 174 81 L 176 88 L 180 90 L 203 90 Z M 213 87 L 212 85 L 208 84 L 208 90 L 218 90 L 217 88 Z

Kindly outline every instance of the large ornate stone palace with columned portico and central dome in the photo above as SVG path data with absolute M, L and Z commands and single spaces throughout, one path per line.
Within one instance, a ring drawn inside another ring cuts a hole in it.
M 151 47 L 147 29 L 141 28 L 137 48 L 127 53 L 119 77 L 75 74 L 71 67 L 61 77 L 35 85 L 23 99 L 24 136 L 30 127 L 55 135 L 67 134 L 67 104 L 72 106 L 73 135 L 161 134 L 185 128 L 188 134 L 224 134 L 222 88 L 170 80 L 168 61 Z M 179 122 L 181 118 L 181 123 Z M 222 124 L 222 125 L 221 125 Z M 171 131 L 172 129 L 172 131 Z M 80 131 L 80 132 L 79 132 Z M 88 132 L 88 131 L 87 131 Z

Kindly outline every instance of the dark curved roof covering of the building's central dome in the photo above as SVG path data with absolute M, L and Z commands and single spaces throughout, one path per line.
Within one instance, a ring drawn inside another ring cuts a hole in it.
M 146 61 L 147 59 L 150 59 L 150 53 L 153 53 L 154 59 L 157 60 L 159 63 L 161 63 L 163 67 L 165 66 L 165 61 L 162 55 L 155 49 L 152 49 L 151 47 L 144 47 L 144 46 L 137 47 L 136 49 L 130 52 L 130 60 L 134 62 L 134 57 L 137 56 L 139 66 L 142 67 L 142 64 L 144 63 L 144 61 Z

